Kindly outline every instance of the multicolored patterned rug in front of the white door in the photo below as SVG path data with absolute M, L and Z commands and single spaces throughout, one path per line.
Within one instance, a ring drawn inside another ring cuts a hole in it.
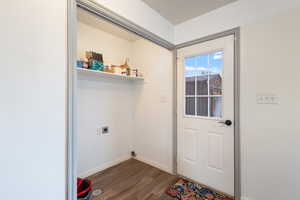
M 211 189 L 179 179 L 166 193 L 174 200 L 233 200 Z

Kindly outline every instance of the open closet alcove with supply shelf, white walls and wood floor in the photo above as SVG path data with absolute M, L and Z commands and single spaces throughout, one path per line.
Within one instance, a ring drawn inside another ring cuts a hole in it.
M 92 181 L 91 199 L 166 195 L 173 52 L 80 7 L 76 27 L 75 176 Z

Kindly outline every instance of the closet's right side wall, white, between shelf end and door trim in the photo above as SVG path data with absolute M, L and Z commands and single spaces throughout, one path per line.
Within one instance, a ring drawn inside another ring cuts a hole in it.
M 145 83 L 136 88 L 134 150 L 138 159 L 172 172 L 172 53 L 138 40 L 133 58 L 145 74 Z

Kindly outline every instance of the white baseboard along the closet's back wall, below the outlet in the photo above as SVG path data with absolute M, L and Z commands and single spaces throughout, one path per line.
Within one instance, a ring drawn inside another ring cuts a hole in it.
M 131 157 L 129 155 L 128 156 L 122 156 L 122 157 L 117 158 L 117 159 L 115 159 L 113 161 L 109 161 L 109 162 L 103 163 L 103 164 L 101 164 L 101 165 L 99 165 L 99 166 L 97 166 L 97 167 L 95 167 L 93 169 L 90 169 L 90 170 L 87 170 L 87 171 L 85 171 L 83 173 L 80 173 L 79 177 L 80 178 L 86 178 L 88 176 L 91 176 L 93 174 L 101 172 L 101 171 L 103 171 L 103 170 L 105 170 L 107 168 L 110 168 L 110 167 L 113 167 L 115 165 L 118 165 L 118 164 L 120 164 L 120 163 L 122 163 L 122 162 L 124 162 L 126 160 L 129 160 L 130 158 Z

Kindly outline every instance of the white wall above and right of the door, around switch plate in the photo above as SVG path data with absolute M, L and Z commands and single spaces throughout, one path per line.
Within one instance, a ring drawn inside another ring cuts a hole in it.
M 300 9 L 278 11 L 299 1 L 251 2 L 240 0 L 179 25 L 176 42 L 242 25 L 242 195 L 250 200 L 300 199 Z M 269 3 L 272 7 L 266 9 Z M 278 95 L 280 103 L 258 105 L 257 94 Z

